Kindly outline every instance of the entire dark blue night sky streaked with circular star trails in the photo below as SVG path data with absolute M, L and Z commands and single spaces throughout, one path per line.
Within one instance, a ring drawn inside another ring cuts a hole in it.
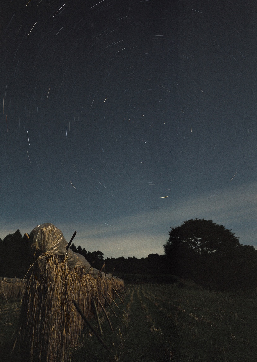
M 257 247 L 257 6 L 2 0 L 0 237 L 105 257 L 211 219 Z

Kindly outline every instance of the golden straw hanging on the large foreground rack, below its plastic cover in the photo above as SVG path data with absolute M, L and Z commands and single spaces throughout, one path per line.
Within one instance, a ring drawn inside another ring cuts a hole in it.
M 22 362 L 66 362 L 76 344 L 84 321 L 76 311 L 75 299 L 88 319 L 93 317 L 92 300 L 102 304 L 112 287 L 123 289 L 123 281 L 94 278 L 84 268 L 70 269 L 68 255 L 43 253 L 28 278 L 13 354 Z M 100 307 L 99 307 L 100 308 Z

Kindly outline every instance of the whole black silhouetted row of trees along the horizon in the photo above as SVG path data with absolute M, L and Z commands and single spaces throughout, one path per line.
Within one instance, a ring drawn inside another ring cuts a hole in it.
M 164 255 L 147 258 L 105 258 L 101 251 L 71 245 L 96 269 L 105 263 L 106 273 L 173 274 L 209 289 L 244 290 L 257 287 L 257 251 L 211 220 L 190 219 L 171 227 Z M 33 262 L 29 240 L 20 231 L 0 239 L 0 275 L 23 278 Z

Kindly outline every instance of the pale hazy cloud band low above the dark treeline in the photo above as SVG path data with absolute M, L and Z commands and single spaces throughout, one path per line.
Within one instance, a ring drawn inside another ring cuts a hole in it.
M 222 224 L 239 237 L 241 244 L 257 248 L 257 196 L 253 198 L 254 194 L 257 195 L 257 183 L 244 187 L 230 186 L 219 190 L 215 195 L 200 194 L 180 200 L 172 207 L 116 217 L 106 220 L 106 223 L 62 224 L 56 219 L 54 224 L 62 230 L 67 241 L 76 230 L 77 235 L 73 240 L 76 246 L 81 245 L 89 251 L 100 249 L 105 257 L 147 257 L 151 253 L 163 254 L 163 244 L 168 240 L 170 227 L 179 226 L 183 221 L 192 218 L 211 219 Z M 30 232 L 36 226 L 35 221 L 14 224 L 10 229 L 3 228 L 0 237 L 13 233 L 17 228 L 22 235 Z

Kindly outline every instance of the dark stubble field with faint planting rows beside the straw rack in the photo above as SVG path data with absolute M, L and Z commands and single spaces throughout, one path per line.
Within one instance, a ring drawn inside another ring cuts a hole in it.
M 108 311 L 114 333 L 100 318 L 111 353 L 86 329 L 70 351 L 70 361 L 257 361 L 256 293 L 211 292 L 187 281 L 130 284 L 126 290 L 125 304 L 118 304 L 119 310 L 112 305 L 117 318 Z M 0 304 L 0 358 L 19 307 L 19 302 Z

